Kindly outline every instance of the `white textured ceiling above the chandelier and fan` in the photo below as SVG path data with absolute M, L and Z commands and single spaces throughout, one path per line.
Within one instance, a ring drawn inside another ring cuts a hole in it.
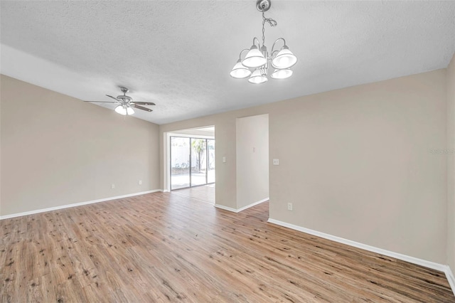
M 279 1 L 267 48 L 283 37 L 294 75 L 230 78 L 261 36 L 252 1 L 0 1 L 1 73 L 81 100 L 130 88 L 156 103 L 136 117 L 163 124 L 446 68 L 455 1 Z M 30 100 L 33 102 L 33 100 Z

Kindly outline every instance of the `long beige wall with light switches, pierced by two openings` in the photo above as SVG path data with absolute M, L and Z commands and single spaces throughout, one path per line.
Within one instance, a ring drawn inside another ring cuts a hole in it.
M 216 201 L 236 208 L 235 119 L 269 114 L 269 157 L 280 161 L 269 171 L 270 218 L 445 264 L 446 156 L 430 152 L 446 146 L 445 76 L 163 124 L 160 142 L 164 132 L 215 125 Z

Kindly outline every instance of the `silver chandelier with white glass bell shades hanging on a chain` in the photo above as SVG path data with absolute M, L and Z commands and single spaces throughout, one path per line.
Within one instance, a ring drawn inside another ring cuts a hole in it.
M 250 49 L 245 48 L 240 52 L 239 60 L 230 71 L 230 76 L 235 79 L 248 78 L 248 82 L 253 84 L 266 83 L 269 79 L 267 73 L 269 65 L 272 65 L 274 72 L 270 77 L 273 79 L 286 79 L 291 77 L 291 67 L 297 63 L 297 57 L 289 50 L 284 38 L 278 38 L 272 45 L 272 52 L 267 52 L 265 46 L 265 23 L 270 26 L 277 26 L 277 21 L 272 18 L 265 18 L 264 12 L 272 6 L 271 0 L 257 0 L 256 8 L 262 12 L 262 46 L 258 38 L 253 38 L 253 45 Z M 275 49 L 279 41 L 282 41 L 282 48 Z M 247 51 L 247 55 L 242 59 L 242 53 Z

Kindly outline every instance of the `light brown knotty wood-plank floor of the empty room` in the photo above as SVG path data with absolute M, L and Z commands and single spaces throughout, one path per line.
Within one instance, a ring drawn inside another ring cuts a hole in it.
M 2 302 L 455 302 L 444 273 L 174 193 L 0 221 Z

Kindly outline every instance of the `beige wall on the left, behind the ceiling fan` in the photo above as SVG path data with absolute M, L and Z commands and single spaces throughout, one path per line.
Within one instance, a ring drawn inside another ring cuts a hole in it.
M 1 75 L 0 214 L 159 189 L 158 137 L 156 124 Z

